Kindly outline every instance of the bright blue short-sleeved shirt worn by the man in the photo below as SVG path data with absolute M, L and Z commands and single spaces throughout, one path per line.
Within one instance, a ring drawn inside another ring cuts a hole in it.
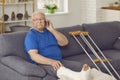
M 43 32 L 31 29 L 25 37 L 24 45 L 26 52 L 36 49 L 38 53 L 44 57 L 59 61 L 62 60 L 57 40 L 47 29 L 44 29 Z M 30 58 L 29 55 L 28 57 Z M 31 58 L 30 62 L 35 63 Z

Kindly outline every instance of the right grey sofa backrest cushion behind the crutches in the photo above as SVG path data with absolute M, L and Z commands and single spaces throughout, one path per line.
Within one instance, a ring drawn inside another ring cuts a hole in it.
M 102 50 L 112 49 L 115 40 L 120 36 L 120 22 L 117 21 L 83 24 L 82 26 Z

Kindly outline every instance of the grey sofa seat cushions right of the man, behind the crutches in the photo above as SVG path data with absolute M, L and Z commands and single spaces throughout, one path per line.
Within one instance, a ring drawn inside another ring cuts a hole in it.
M 120 67 L 119 67 L 119 64 L 120 64 L 120 50 L 104 50 L 103 53 L 108 58 L 110 63 L 113 65 L 113 67 L 116 70 L 120 70 Z M 90 56 L 93 59 L 96 59 L 96 57 L 92 53 L 90 54 Z M 77 62 L 80 62 L 82 64 L 88 64 L 91 67 L 95 67 L 95 65 L 92 63 L 92 61 L 88 58 L 88 56 L 86 54 L 80 54 L 80 55 L 75 55 L 75 56 L 71 56 L 71 57 L 66 57 L 64 59 L 65 60 L 70 60 L 70 61 L 77 61 Z M 100 69 L 103 72 L 107 72 L 106 69 L 103 67 L 103 65 L 101 63 L 97 63 L 97 65 L 100 67 Z M 106 65 L 112 71 L 110 66 L 108 64 L 106 64 Z

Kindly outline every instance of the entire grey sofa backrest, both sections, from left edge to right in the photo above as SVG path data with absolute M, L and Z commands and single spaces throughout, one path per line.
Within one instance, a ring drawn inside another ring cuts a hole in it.
M 70 31 L 88 31 L 100 49 L 112 49 L 115 40 L 120 36 L 120 22 L 83 24 L 82 26 L 76 25 L 71 27 L 57 28 L 57 30 L 62 32 L 69 40 L 69 44 L 67 46 L 60 47 L 63 58 L 65 58 L 68 56 L 84 53 L 79 44 L 74 40 L 72 36 L 69 35 Z M 17 55 L 24 59 L 27 59 L 26 53 L 24 51 L 24 38 L 26 36 L 26 33 L 27 32 L 14 32 L 9 34 L 1 34 L 0 57 Z M 83 40 L 79 36 L 78 39 L 86 48 L 86 45 L 83 43 Z

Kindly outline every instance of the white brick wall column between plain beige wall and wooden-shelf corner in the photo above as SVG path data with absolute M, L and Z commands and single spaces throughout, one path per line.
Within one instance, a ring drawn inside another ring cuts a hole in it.
M 96 22 L 96 0 L 80 0 L 81 23 Z

